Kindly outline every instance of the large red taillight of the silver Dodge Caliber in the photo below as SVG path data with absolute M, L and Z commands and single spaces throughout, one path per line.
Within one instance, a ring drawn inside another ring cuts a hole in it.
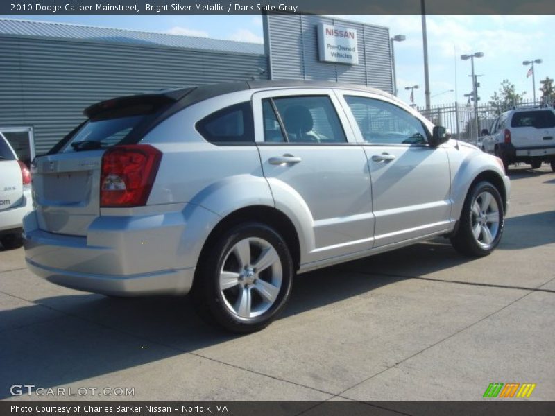
M 162 153 L 150 145 L 114 146 L 104 153 L 100 177 L 101 207 L 146 205 Z

